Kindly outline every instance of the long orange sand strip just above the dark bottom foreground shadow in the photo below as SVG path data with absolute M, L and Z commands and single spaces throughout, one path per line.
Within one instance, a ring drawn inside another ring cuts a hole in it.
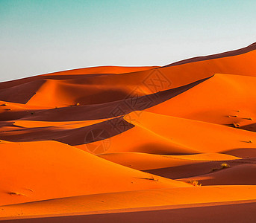
M 239 193 L 238 193 L 239 192 Z M 252 201 L 256 199 L 256 186 L 205 186 L 143 191 L 127 191 L 97 195 L 82 195 L 70 198 L 57 198 L 25 204 L 1 206 L 1 219 L 19 219 L 26 216 L 79 215 L 112 213 L 118 209 L 139 207 L 160 207 L 178 204 L 202 204 L 210 202 Z M 65 210 L 65 211 L 63 211 Z M 0 220 L 1 220 L 0 219 Z

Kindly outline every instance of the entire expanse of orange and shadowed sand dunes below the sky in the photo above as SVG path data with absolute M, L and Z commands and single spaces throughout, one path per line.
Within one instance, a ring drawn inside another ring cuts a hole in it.
M 163 210 L 186 210 L 175 218 L 189 222 L 188 213 L 200 219 L 204 208 L 216 216 L 220 206 L 251 208 L 255 77 L 254 43 L 163 67 L 80 68 L 0 83 L 0 222 L 99 222 L 105 213 L 135 222 Z

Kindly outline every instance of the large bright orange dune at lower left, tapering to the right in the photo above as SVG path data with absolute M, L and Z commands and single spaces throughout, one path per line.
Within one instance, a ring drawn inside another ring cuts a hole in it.
M 53 141 L 0 143 L 0 149 L 0 175 L 4 178 L 0 205 L 124 190 L 191 187 Z

